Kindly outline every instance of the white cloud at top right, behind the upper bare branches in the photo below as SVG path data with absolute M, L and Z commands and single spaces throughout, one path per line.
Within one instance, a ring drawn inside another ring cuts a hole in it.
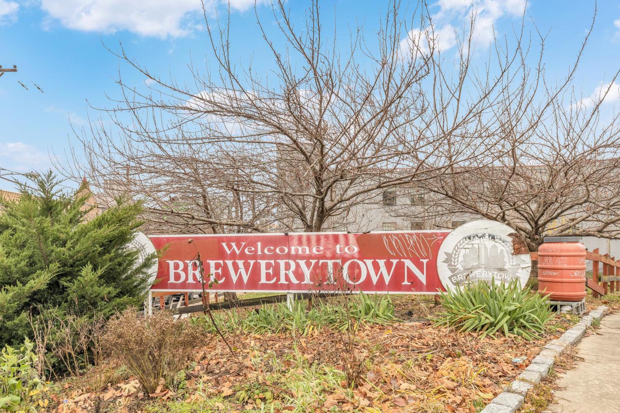
M 495 23 L 502 17 L 519 17 L 525 11 L 526 0 L 438 0 L 439 7 L 433 17 L 433 27 L 415 29 L 401 40 L 401 51 L 410 50 L 420 39 L 422 52 L 428 51 L 429 43 L 436 50 L 446 51 L 456 45 L 456 34 L 469 33 L 472 13 L 476 17 L 473 40 L 477 45 L 488 46 L 495 36 Z M 431 30 L 432 29 L 432 30 Z M 432 34 L 431 34 L 432 33 Z

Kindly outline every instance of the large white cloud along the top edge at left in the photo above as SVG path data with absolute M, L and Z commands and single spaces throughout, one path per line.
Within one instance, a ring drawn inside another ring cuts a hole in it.
M 4 1 L 4 0 L 0 0 Z M 263 4 L 268 0 L 259 0 Z M 208 12 L 227 0 L 205 0 Z M 254 0 L 230 0 L 234 11 L 245 11 Z M 159 38 L 183 37 L 200 27 L 200 0 L 42 0 L 48 18 L 64 27 L 84 32 L 114 33 L 120 30 Z

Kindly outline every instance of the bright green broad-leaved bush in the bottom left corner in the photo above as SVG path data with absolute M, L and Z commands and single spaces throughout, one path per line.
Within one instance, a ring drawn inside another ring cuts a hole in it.
M 37 375 L 37 355 L 26 340 L 21 349 L 6 345 L 0 352 L 0 411 L 37 411 L 47 406 L 42 399 L 43 383 Z

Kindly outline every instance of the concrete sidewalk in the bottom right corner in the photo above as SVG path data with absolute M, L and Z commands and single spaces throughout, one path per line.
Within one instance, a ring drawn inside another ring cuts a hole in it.
M 601 319 L 598 332 L 578 344 L 577 354 L 585 360 L 558 380 L 565 389 L 556 392 L 557 404 L 547 412 L 620 413 L 620 314 Z

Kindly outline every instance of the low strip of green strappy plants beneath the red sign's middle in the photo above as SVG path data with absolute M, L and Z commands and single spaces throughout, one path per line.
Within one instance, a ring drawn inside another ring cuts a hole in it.
M 345 331 L 350 323 L 386 324 L 393 321 L 394 305 L 389 298 L 377 298 L 360 293 L 343 296 L 330 301 L 318 301 L 310 311 L 297 301 L 291 311 L 286 303 L 263 305 L 255 311 L 214 311 L 213 317 L 223 332 L 308 334 L 330 327 Z M 193 317 L 192 323 L 215 333 L 208 316 Z

